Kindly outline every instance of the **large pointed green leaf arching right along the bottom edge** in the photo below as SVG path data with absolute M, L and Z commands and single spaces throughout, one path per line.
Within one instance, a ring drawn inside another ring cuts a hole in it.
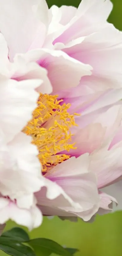
M 27 241 L 27 243 L 34 249 L 37 256 L 48 256 L 51 253 L 55 253 L 62 256 L 71 256 L 72 254 L 64 249 L 58 243 L 46 239 L 46 238 L 37 238 Z

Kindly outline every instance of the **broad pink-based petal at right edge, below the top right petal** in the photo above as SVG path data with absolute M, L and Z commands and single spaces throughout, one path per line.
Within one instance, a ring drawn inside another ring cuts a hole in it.
M 81 80 L 82 84 L 88 83 L 96 90 L 103 90 L 105 87 L 106 89 L 117 88 L 120 87 L 121 81 L 121 41 L 122 34 L 108 24 L 99 32 L 85 37 L 84 40 L 81 38 L 81 42 L 78 38 L 72 42 L 71 46 L 65 45 L 63 51 L 93 67 L 92 80 L 86 77 Z M 112 61 L 113 54 L 114 62 Z M 101 81 L 104 81 L 104 84 Z

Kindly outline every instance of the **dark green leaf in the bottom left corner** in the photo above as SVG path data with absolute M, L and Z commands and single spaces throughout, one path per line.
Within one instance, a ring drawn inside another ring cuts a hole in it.
M 0 237 L 0 249 L 12 256 L 36 256 L 34 251 L 14 238 Z

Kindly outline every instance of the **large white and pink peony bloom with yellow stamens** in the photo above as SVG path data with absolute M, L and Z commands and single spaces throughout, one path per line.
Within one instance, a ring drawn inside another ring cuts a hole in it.
M 0 224 L 89 221 L 117 203 L 104 192 L 121 177 L 122 34 L 111 9 L 0 0 Z

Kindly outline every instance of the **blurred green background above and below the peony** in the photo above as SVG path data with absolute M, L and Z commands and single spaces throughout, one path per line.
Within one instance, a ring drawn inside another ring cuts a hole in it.
M 48 0 L 48 6 L 64 4 L 77 7 L 79 2 L 80 0 Z M 122 0 L 112 0 L 112 2 L 114 8 L 109 22 L 122 30 Z M 6 229 L 14 225 L 13 222 L 8 222 Z M 122 212 L 97 216 L 93 223 L 85 223 L 81 220 L 73 223 L 61 221 L 57 217 L 51 220 L 45 217 L 41 227 L 33 230 L 30 236 L 45 237 L 66 247 L 78 248 L 80 252 L 76 254 L 77 256 L 122 256 Z M 5 255 L 0 251 L 0 256 Z

